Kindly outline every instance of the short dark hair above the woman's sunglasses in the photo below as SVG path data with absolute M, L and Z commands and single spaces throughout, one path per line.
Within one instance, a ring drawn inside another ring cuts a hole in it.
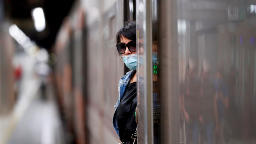
M 127 21 L 116 34 L 116 43 L 121 43 L 122 35 L 132 41 L 136 41 L 136 22 Z

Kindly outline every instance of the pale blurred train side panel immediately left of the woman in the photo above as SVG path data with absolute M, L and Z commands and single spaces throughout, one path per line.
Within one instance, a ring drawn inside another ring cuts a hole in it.
M 118 143 L 112 116 L 117 83 L 124 65 L 116 54 L 115 35 L 123 25 L 122 1 L 83 1 L 86 10 L 86 107 L 89 143 Z

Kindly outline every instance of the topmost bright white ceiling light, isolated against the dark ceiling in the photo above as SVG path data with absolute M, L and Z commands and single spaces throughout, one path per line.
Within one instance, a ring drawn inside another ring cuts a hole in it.
M 41 7 L 37 7 L 32 10 L 32 17 L 34 25 L 37 31 L 43 31 L 45 29 L 44 11 Z

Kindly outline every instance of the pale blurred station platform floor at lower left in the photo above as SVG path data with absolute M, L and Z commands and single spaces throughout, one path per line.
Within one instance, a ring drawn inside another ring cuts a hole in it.
M 11 113 L 0 116 L 0 143 L 65 144 L 53 86 L 47 84 L 42 97 L 37 78 L 25 83 Z

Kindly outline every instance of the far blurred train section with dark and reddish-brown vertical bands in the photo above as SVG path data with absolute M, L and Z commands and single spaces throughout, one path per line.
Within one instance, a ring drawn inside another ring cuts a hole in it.
M 76 5 L 76 4 L 75 4 Z M 74 6 L 77 7 L 77 6 Z M 85 143 L 85 101 L 83 98 L 83 12 L 71 11 L 63 21 L 53 53 L 57 98 L 68 143 Z

